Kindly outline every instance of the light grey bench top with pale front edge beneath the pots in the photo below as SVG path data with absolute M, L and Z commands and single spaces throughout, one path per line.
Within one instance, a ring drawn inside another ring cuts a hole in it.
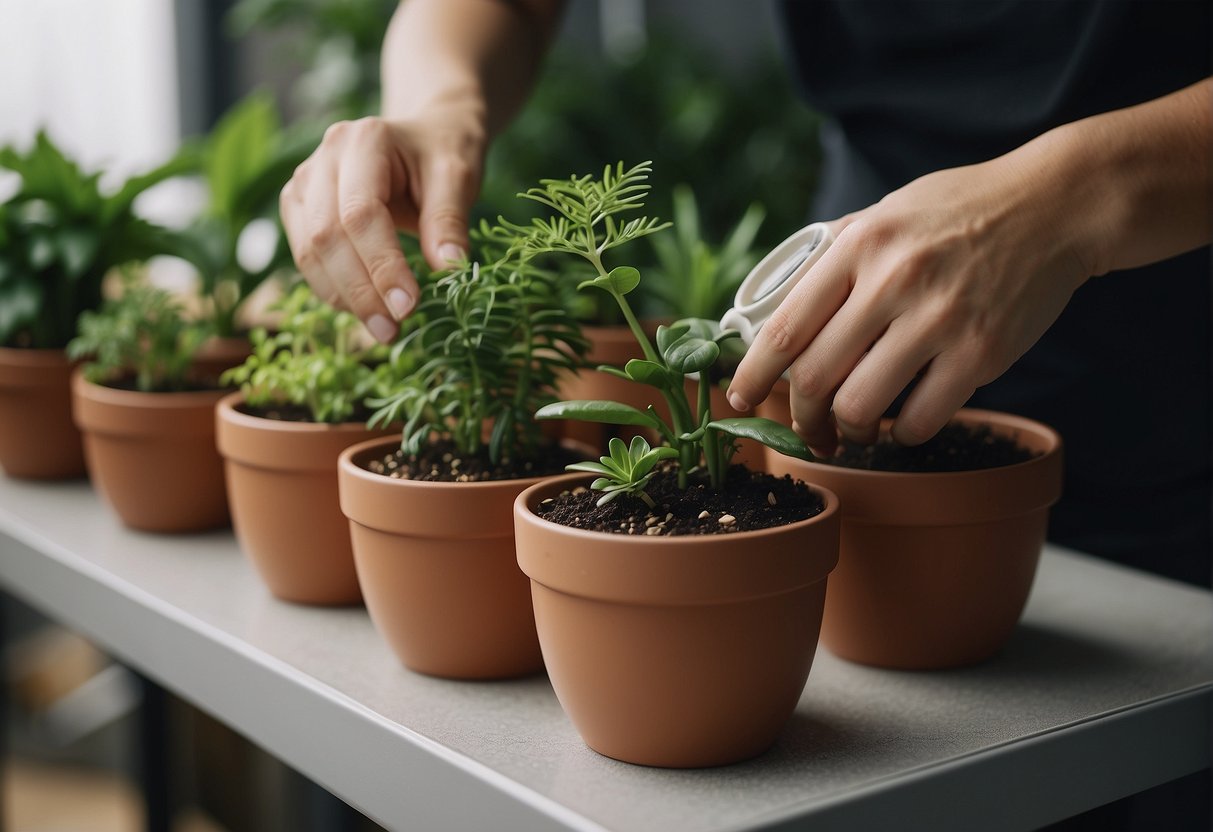
M 82 481 L 0 477 L 0 585 L 393 830 L 1032 828 L 1209 765 L 1213 595 L 1054 547 L 996 659 L 821 650 L 775 748 L 693 771 L 590 751 L 542 676 L 405 671 L 361 608 L 278 602 L 229 531 L 129 531 Z

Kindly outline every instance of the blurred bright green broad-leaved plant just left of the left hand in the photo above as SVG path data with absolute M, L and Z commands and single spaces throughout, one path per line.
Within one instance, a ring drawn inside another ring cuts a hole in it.
M 314 147 L 313 136 L 284 131 L 273 99 L 258 92 L 233 107 L 203 143 L 188 148 L 210 199 L 181 233 L 176 253 L 198 268 L 216 335 L 234 335 L 240 304 L 272 274 L 292 267 L 278 221 L 278 194 Z M 266 262 L 246 268 L 238 256 L 240 235 L 257 220 L 275 223 L 277 240 Z

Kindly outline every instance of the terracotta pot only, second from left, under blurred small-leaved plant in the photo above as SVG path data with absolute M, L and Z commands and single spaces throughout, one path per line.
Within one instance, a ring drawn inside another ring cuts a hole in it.
M 72 377 L 89 475 L 132 529 L 201 531 L 227 525 L 215 403 L 226 391 L 139 393 Z

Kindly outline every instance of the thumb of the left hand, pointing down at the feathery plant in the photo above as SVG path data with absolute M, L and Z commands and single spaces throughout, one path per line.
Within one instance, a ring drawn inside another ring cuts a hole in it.
M 460 159 L 433 159 L 426 166 L 417 232 L 431 268 L 448 268 L 467 253 L 467 218 L 478 186 L 478 171 Z

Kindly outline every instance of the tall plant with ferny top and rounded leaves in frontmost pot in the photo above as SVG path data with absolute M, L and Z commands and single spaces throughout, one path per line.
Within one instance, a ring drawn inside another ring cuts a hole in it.
M 756 417 L 712 418 L 707 375 L 721 357 L 721 343 L 736 337 L 735 331 L 722 331 L 716 321 L 691 318 L 657 327 L 654 343 L 627 300 L 640 283 L 639 270 L 631 266 L 606 269 L 604 252 L 666 227 L 649 217 L 627 220 L 620 216 L 643 207 L 649 171 L 648 163 L 630 170 L 620 164 L 614 170 L 608 166 L 602 179 L 581 176 L 543 181 L 541 188 L 522 195 L 554 209 L 556 216 L 511 228 L 518 235 L 518 246 L 526 252 L 571 253 L 593 266 L 597 277 L 582 283 L 581 287 L 604 291 L 615 300 L 644 353 L 643 359 L 632 359 L 622 369 L 600 366 L 599 370 L 654 387 L 670 409 L 670 421 L 660 417 L 651 405 L 642 411 L 617 401 L 585 400 L 546 405 L 535 414 L 536 418 L 575 418 L 656 431 L 677 451 L 671 461 L 683 489 L 689 484 L 689 473 L 699 467 L 706 471 L 712 488 L 721 488 L 736 452 L 736 438 L 756 439 L 781 454 L 808 457 L 809 451 L 799 437 L 778 422 Z M 688 377 L 697 378 L 694 403 L 687 395 Z M 598 480 L 599 489 L 613 484 L 603 479 Z M 631 490 L 639 494 L 643 488 Z

